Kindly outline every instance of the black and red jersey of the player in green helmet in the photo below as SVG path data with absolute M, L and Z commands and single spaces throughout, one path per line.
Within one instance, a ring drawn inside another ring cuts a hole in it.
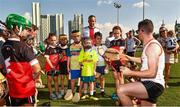
M 31 65 L 38 61 L 33 51 L 19 39 L 9 38 L 2 47 L 2 55 L 7 69 L 9 95 L 14 98 L 34 95 L 35 82 Z

